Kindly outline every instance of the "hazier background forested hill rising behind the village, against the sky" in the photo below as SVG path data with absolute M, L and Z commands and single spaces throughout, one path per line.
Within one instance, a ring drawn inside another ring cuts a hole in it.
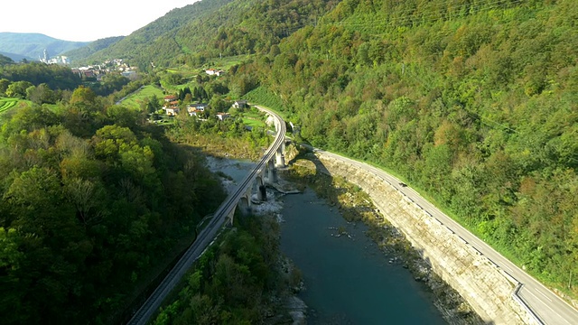
M 175 9 L 88 60 L 125 58 L 141 70 L 269 51 L 271 45 L 331 10 L 328 0 L 213 0 Z

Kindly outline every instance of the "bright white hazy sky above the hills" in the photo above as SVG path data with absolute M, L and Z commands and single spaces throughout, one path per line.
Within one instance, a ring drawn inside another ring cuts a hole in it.
M 0 32 L 40 32 L 64 41 L 128 35 L 197 0 L 4 0 Z

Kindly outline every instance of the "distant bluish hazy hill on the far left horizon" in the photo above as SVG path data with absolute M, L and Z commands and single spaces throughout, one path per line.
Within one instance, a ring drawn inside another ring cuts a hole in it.
M 27 60 L 38 60 L 43 56 L 44 50 L 48 51 L 50 56 L 55 56 L 88 44 L 89 42 L 62 41 L 41 33 L 0 32 L 0 52 L 7 53 L 5 55 L 13 60 L 17 55 Z

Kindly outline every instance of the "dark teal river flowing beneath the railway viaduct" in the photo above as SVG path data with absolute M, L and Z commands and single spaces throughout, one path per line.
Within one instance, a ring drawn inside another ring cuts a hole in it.
M 254 164 L 210 158 L 211 169 L 241 181 Z M 230 184 L 230 186 L 234 186 Z M 277 213 L 281 249 L 303 272 L 309 324 L 445 324 L 424 283 L 379 250 L 363 224 L 348 223 L 312 190 L 267 190 L 257 210 Z M 349 236 L 338 237 L 339 230 Z

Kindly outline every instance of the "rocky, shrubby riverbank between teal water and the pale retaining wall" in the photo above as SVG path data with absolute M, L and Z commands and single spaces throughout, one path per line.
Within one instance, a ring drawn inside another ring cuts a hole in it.
M 373 239 L 391 265 L 403 265 L 408 268 L 417 282 L 424 283 L 432 292 L 434 305 L 450 324 L 483 324 L 471 305 L 465 302 L 458 292 L 433 273 L 432 268 L 415 250 L 409 241 L 383 218 L 367 193 L 340 177 L 331 177 L 315 172 L 311 162 L 300 161 L 299 166 L 282 172 L 287 181 L 293 181 L 303 190 L 310 187 L 331 206 L 340 210 L 343 218 L 350 222 L 363 222 L 368 225 L 366 235 Z M 336 236 L 348 236 L 345 229 L 337 230 Z M 386 270 L 384 270 L 386 272 Z

